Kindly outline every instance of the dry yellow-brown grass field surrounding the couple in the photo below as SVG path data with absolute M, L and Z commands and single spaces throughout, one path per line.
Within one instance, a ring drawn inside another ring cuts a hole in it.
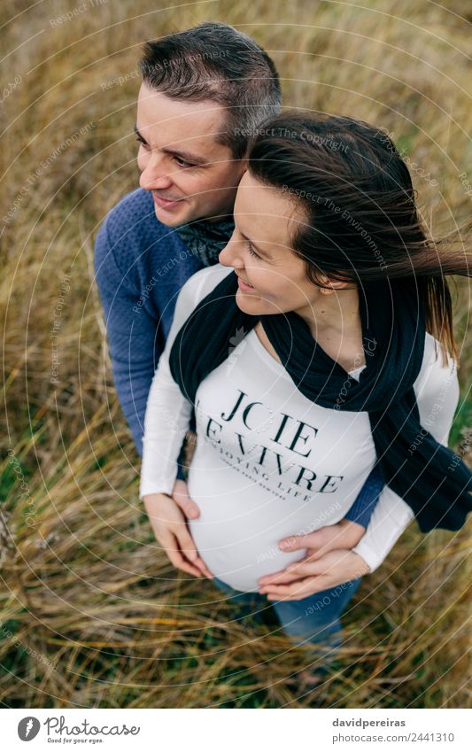
M 426 538 L 414 525 L 406 531 L 355 596 L 337 671 L 305 696 L 287 680 L 306 663 L 303 649 L 269 627 L 235 620 L 209 582 L 176 575 L 153 546 L 137 500 L 139 461 L 112 386 L 92 266 L 99 223 L 137 182 L 138 80 L 109 90 L 101 84 L 135 70 L 145 37 L 204 19 L 233 23 L 266 47 L 282 72 L 286 105 L 353 115 L 393 132 L 424 171 L 414 168 L 414 182 L 434 233 L 465 221 L 471 186 L 460 174 L 472 157 L 472 36 L 470 19 L 458 15 L 463 4 L 259 0 L 165 11 L 149 0 L 110 0 L 50 23 L 78 5 L 2 6 L 4 80 L 13 84 L 3 95 L 3 211 L 18 206 L 3 222 L 0 282 L 2 429 L 11 450 L 2 455 L 0 486 L 0 703 L 463 707 L 466 530 Z M 54 386 L 50 330 L 66 274 Z M 471 361 L 463 282 L 456 312 L 465 400 Z M 469 420 L 464 401 L 454 446 L 467 438 Z

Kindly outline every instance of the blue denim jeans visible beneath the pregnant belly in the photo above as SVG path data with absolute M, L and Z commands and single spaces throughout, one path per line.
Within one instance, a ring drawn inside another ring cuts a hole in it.
M 251 616 L 256 623 L 264 622 L 263 612 L 272 605 L 282 631 L 298 645 L 318 644 L 326 650 L 339 647 L 342 629 L 340 616 L 360 585 L 361 578 L 344 582 L 329 590 L 313 593 L 299 601 L 267 601 L 261 593 L 244 593 L 234 590 L 218 578 L 214 585 L 228 596 L 241 616 Z

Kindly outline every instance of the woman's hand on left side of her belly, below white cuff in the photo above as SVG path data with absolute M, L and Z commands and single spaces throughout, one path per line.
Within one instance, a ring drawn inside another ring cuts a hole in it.
M 183 484 L 185 489 L 177 484 Z M 183 481 L 175 482 L 173 494 L 175 493 L 179 503 L 166 493 L 150 493 L 143 497 L 144 507 L 149 515 L 156 540 L 176 569 L 188 572 L 195 577 L 201 577 L 204 574 L 207 578 L 213 578 L 212 572 L 207 569 L 205 562 L 198 555 L 187 527 L 187 521 L 180 508 L 181 504 L 185 509 L 189 509 L 189 505 L 193 506 L 195 509 L 191 514 L 198 516 L 197 505 L 190 500 Z

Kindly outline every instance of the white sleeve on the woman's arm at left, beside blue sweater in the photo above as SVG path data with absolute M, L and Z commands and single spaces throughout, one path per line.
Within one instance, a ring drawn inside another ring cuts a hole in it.
M 144 417 L 140 499 L 149 493 L 170 494 L 174 487 L 177 459 L 182 440 L 189 430 L 193 405 L 174 382 L 169 354 L 178 331 L 197 306 L 199 298 L 203 297 L 205 279 L 211 271 L 211 268 L 205 268 L 191 276 L 175 304 L 174 321 L 152 378 Z

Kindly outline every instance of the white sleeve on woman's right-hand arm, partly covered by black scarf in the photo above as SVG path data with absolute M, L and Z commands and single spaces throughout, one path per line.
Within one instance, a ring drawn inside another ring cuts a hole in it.
M 435 343 L 430 337 L 429 352 L 431 340 Z M 422 426 L 437 442 L 447 446 L 459 402 L 459 382 L 453 360 L 449 358 L 448 365 L 443 367 L 440 355 L 438 360 L 429 358 L 428 366 L 414 386 Z M 368 563 L 371 571 L 376 570 L 413 518 L 413 509 L 389 486 L 385 486 L 367 531 L 352 551 Z

